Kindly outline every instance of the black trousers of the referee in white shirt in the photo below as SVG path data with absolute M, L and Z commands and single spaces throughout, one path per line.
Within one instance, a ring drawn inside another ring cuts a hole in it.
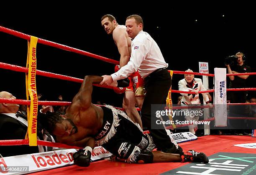
M 143 127 L 148 128 L 158 150 L 173 148 L 169 135 L 164 129 L 151 129 L 151 104 L 166 104 L 166 97 L 172 85 L 172 77 L 167 69 L 152 72 L 145 78 L 146 96 L 141 109 Z M 155 116 L 152 116 L 155 117 Z M 152 118 L 152 120 L 156 120 Z

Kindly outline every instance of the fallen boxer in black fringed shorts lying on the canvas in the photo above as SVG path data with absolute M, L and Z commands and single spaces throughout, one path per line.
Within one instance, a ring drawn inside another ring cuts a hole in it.
M 152 152 L 154 144 L 151 138 L 143 134 L 139 125 L 124 112 L 112 106 L 92 104 L 92 84 L 99 84 L 102 80 L 100 76 L 85 76 L 66 114 L 49 112 L 44 117 L 44 126 L 57 136 L 58 142 L 84 148 L 74 153 L 75 164 L 89 166 L 95 145 L 102 145 L 117 158 L 129 163 L 209 162 L 204 153 L 190 150 L 184 154 L 180 147 L 175 154 Z

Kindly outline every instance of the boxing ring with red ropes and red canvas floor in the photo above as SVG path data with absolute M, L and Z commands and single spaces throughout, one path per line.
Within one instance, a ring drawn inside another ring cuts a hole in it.
M 0 26 L 0 31 L 8 33 L 10 35 L 14 35 L 16 37 L 23 38 L 25 40 L 31 40 L 30 35 L 26 35 L 21 32 L 17 32 L 15 30 L 10 30 L 8 28 L 4 28 Z M 38 43 L 41 43 L 43 45 L 49 45 L 51 47 L 56 47 L 62 50 L 67 50 L 70 52 L 78 53 L 80 55 L 86 55 L 98 60 L 102 60 L 104 62 L 109 62 L 115 65 L 118 65 L 119 62 L 116 60 L 112 60 L 106 57 L 102 57 L 99 55 L 92 54 L 90 52 L 86 52 L 83 50 L 79 50 L 73 47 L 69 47 L 66 45 L 61 45 L 55 42 L 47 41 L 38 38 Z M 17 65 L 10 65 L 8 63 L 0 62 L 0 68 L 6 69 L 6 70 L 12 70 L 15 72 L 25 72 L 28 73 L 29 69 L 28 67 L 20 67 Z M 184 71 L 173 71 L 173 74 L 187 74 L 187 72 Z M 199 72 L 189 72 L 189 74 L 193 75 L 205 75 L 214 77 L 214 74 L 206 74 L 206 73 L 199 73 Z M 71 82 L 79 82 L 82 83 L 83 79 L 79 79 L 76 77 L 70 77 L 66 75 L 60 75 L 55 74 L 51 72 L 45 72 L 41 70 L 36 70 L 36 75 L 49 77 L 49 78 L 56 78 L 60 80 L 66 80 Z M 256 75 L 256 72 L 251 73 L 237 73 L 237 74 L 227 74 L 227 76 L 237 76 L 237 75 Z M 100 86 L 95 85 L 102 88 L 108 88 L 113 89 L 111 86 Z M 256 88 L 239 88 L 239 89 L 227 89 L 227 91 L 246 91 L 246 90 L 256 90 Z M 187 91 L 179 91 L 179 90 L 170 90 L 172 93 L 187 93 L 187 94 L 195 94 L 195 92 L 187 92 Z M 205 92 L 214 92 L 214 90 L 206 90 L 206 91 L 199 91 L 198 93 L 205 93 Z M 20 104 L 20 105 L 30 105 L 30 100 L 21 100 L 21 99 L 6 99 L 6 98 L 0 98 L 0 102 L 5 103 L 13 103 L 13 104 Z M 71 102 L 57 102 L 57 101 L 38 101 L 38 105 L 70 105 Z M 245 105 L 244 103 L 235 103 L 235 104 L 227 104 L 227 105 Z M 248 104 L 246 104 L 248 105 Z M 256 105 L 256 103 L 251 103 L 250 105 Z M 115 107 L 117 109 L 123 110 L 123 108 Z M 182 109 L 187 107 L 182 106 L 173 106 L 172 109 Z M 209 106 L 201 106 L 201 108 L 209 108 Z M 137 108 L 139 110 L 139 108 Z M 228 117 L 229 119 L 238 119 L 237 117 Z M 252 117 L 239 117 L 239 119 L 246 119 L 246 120 L 255 120 L 256 118 Z M 212 121 L 215 120 L 215 117 L 211 117 L 202 121 Z M 182 125 L 176 125 L 176 128 L 184 127 L 189 124 L 182 124 Z M 168 129 L 172 129 L 172 126 L 167 127 Z M 149 131 L 144 131 L 145 133 L 149 133 Z M 28 145 L 29 140 L 0 140 L 0 145 Z M 51 146 L 51 147 L 58 147 L 58 148 L 78 148 L 74 146 L 69 146 L 61 143 L 51 143 L 47 141 L 37 140 L 37 145 L 44 145 L 44 146 Z M 97 173 L 97 174 L 201 174 L 202 172 L 205 172 L 205 170 L 208 170 L 207 172 L 203 174 L 210 174 L 213 171 L 220 171 L 219 173 L 228 172 L 228 173 L 240 173 L 242 174 L 245 167 L 251 168 L 249 170 L 253 170 L 253 167 L 256 167 L 253 165 L 253 163 L 256 165 L 256 138 L 253 138 L 251 136 L 233 136 L 233 135 L 205 135 L 202 137 L 197 138 L 197 140 L 193 140 L 190 142 L 184 142 L 180 143 L 180 146 L 182 146 L 184 151 L 187 151 L 191 148 L 195 150 L 200 150 L 201 152 L 204 152 L 207 156 L 210 156 L 210 163 L 209 165 L 202 165 L 197 163 L 153 163 L 153 164 L 128 164 L 128 163 L 121 163 L 121 162 L 111 162 L 109 160 L 99 160 L 92 162 L 91 165 L 87 168 L 82 168 L 77 165 L 72 165 L 72 158 L 69 158 L 69 163 L 64 164 L 66 166 L 64 167 L 51 167 L 41 170 L 46 170 L 43 172 L 37 172 L 33 174 L 43 174 L 43 173 L 50 173 L 50 174 L 84 174 L 84 173 Z M 207 145 L 207 146 L 206 146 Z M 255 148 L 255 149 L 253 149 Z M 73 149 L 74 153 L 74 149 Z M 245 155 L 245 154 L 250 155 Z M 231 154 L 233 157 L 229 157 L 228 154 Z M 234 154 L 234 155 L 233 155 Z M 67 155 L 69 155 L 67 153 Z M 235 157 L 236 156 L 236 157 Z M 251 157 L 250 157 L 251 156 Z M 250 159 L 247 159 L 250 158 Z M 40 160 L 40 159 L 39 159 Z M 38 166 L 40 167 L 41 163 L 38 162 Z M 62 160 L 62 159 L 61 159 Z M 65 161 L 68 161 L 68 159 L 64 159 Z M 5 158 L 0 158 L 0 166 L 3 167 L 3 163 L 5 161 Z M 64 161 L 64 163 L 65 163 Z M 228 162 L 227 162 L 228 161 Z M 230 162 L 231 161 L 231 162 Z M 5 161 L 6 162 L 6 161 Z M 36 162 L 36 160 L 35 160 Z M 233 163 L 231 165 L 230 163 Z M 250 165 L 247 164 L 250 163 Z M 40 164 L 40 165 L 39 165 Z M 182 167 L 186 167 L 184 170 L 180 169 Z M 48 167 L 48 165 L 47 165 Z M 196 168 L 197 167 L 197 168 Z M 201 168 L 200 168 L 201 167 Z M 239 168 L 238 168 L 239 167 Z M 212 169 L 215 168 L 215 169 Z M 219 168 L 219 169 L 218 169 Z M 51 169 L 51 170 L 47 170 Z M 200 171 L 198 171 L 200 170 Z M 34 170 L 36 171 L 36 170 Z M 223 172 L 222 172 L 223 171 Z M 255 170 L 256 171 L 256 170 Z M 25 172 L 25 173 L 31 173 Z M 187 173 L 186 173 L 187 172 Z M 189 172 L 189 173 L 188 173 Z M 0 174 L 9 174 L 5 171 L 0 171 Z M 12 173 L 10 173 L 12 174 Z M 217 173 L 218 174 L 218 173 Z M 227 173 L 224 173 L 227 174 Z

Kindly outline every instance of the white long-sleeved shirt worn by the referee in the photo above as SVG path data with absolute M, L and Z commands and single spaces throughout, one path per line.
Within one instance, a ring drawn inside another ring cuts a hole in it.
M 127 65 L 111 74 L 114 81 L 124 79 L 133 72 L 138 72 L 145 78 L 155 70 L 168 67 L 160 48 L 153 38 L 142 30 L 131 43 L 131 58 Z

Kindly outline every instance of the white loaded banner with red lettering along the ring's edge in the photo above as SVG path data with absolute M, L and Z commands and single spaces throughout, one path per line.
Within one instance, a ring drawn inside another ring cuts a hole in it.
M 73 154 L 76 152 L 75 149 L 66 149 L 0 158 L 0 175 L 27 174 L 72 165 L 74 163 Z M 92 151 L 91 160 L 95 161 L 111 155 L 101 146 L 95 147 Z

